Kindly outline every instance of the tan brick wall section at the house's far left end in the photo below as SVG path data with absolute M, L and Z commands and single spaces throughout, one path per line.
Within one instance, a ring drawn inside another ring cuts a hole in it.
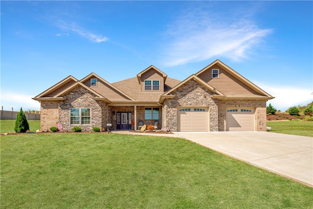
M 50 131 L 49 128 L 57 126 L 59 121 L 59 101 L 41 101 L 40 102 L 40 130 Z

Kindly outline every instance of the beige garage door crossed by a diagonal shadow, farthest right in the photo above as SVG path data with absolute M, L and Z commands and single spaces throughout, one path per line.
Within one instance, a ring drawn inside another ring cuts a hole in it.
M 226 131 L 254 131 L 254 109 L 228 109 L 226 112 Z

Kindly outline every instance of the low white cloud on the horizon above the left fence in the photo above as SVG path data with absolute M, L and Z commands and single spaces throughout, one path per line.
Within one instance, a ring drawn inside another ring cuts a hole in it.
M 20 111 L 21 107 L 24 111 L 26 110 L 40 110 L 40 103 L 32 99 L 34 95 L 20 94 L 14 92 L 3 92 L 1 91 L 1 106 L 3 110 L 11 110 L 13 107 L 14 111 Z

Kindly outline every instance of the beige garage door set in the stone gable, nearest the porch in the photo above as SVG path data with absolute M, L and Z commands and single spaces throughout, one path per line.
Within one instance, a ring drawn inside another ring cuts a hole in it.
M 178 108 L 178 131 L 208 131 L 208 108 Z

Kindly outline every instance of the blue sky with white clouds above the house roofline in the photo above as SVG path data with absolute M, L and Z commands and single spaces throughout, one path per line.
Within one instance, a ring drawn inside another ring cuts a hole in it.
M 313 100 L 313 1 L 0 1 L 1 106 L 68 75 L 110 83 L 150 65 L 184 80 L 216 59 L 285 111 Z

